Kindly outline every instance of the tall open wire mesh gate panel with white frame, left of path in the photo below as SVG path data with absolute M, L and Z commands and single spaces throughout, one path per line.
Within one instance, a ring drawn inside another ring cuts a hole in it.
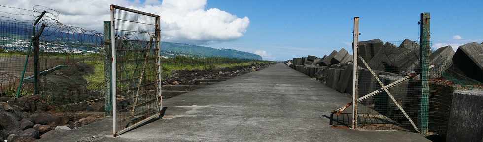
M 113 133 L 160 115 L 160 17 L 111 5 Z

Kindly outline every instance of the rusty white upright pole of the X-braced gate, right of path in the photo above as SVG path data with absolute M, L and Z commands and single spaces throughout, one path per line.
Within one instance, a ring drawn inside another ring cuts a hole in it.
M 359 45 L 359 17 L 354 17 L 354 39 L 352 45 L 353 51 L 353 74 L 352 74 L 352 129 L 357 127 L 357 46 Z

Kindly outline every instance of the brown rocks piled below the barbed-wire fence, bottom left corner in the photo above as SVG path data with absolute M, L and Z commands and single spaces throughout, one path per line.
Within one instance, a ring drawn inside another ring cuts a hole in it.
M 38 95 L 0 98 L 0 137 L 8 142 L 32 142 L 62 126 L 69 129 L 98 121 L 104 113 L 56 113 Z

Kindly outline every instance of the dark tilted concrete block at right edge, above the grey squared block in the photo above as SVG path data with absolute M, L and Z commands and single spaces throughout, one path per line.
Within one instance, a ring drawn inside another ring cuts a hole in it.
M 483 47 L 476 42 L 459 46 L 453 63 L 465 76 L 483 82 Z

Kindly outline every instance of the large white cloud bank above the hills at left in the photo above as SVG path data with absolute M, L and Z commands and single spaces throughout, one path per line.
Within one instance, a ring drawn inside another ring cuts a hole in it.
M 0 5 L 24 9 L 46 5 L 61 13 L 60 22 L 99 32 L 103 31 L 103 21 L 110 20 L 110 4 L 160 15 L 163 41 L 207 44 L 234 40 L 242 37 L 250 24 L 248 17 L 239 18 L 218 8 L 206 9 L 207 0 L 0 0 Z

